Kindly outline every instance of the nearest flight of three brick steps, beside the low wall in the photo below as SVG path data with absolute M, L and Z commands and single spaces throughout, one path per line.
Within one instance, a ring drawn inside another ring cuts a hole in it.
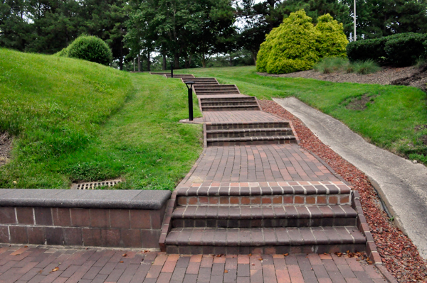
M 349 187 L 341 182 L 312 183 L 180 187 L 166 251 L 263 254 L 364 250 L 366 238 L 356 226 L 357 212 L 349 205 Z

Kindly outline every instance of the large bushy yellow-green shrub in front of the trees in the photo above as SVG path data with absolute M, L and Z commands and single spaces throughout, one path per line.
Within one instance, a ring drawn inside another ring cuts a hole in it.
M 348 43 L 342 24 L 330 14 L 315 27 L 304 10 L 291 13 L 265 37 L 258 52 L 258 72 L 282 74 L 310 70 L 322 57 L 345 57 Z

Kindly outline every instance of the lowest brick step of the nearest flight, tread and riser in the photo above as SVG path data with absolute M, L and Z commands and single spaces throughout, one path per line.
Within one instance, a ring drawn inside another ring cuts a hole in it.
M 272 254 L 363 251 L 355 226 L 312 228 L 172 228 L 167 253 Z

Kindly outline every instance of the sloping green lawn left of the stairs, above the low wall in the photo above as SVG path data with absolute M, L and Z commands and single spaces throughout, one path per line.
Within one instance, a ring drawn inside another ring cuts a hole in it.
M 178 123 L 186 94 L 178 79 L 0 49 L 0 133 L 14 136 L 0 187 L 173 189 L 202 149 L 201 126 Z

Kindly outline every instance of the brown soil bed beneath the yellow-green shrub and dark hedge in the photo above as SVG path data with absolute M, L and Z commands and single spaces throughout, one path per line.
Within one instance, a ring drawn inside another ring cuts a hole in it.
M 382 67 L 381 71 L 374 74 L 347 74 L 335 72 L 323 74 L 315 70 L 293 72 L 290 74 L 267 74 L 268 77 L 303 77 L 306 79 L 320 79 L 327 82 L 357 82 L 359 84 L 396 84 L 418 87 L 427 91 L 427 65 L 423 67 Z

